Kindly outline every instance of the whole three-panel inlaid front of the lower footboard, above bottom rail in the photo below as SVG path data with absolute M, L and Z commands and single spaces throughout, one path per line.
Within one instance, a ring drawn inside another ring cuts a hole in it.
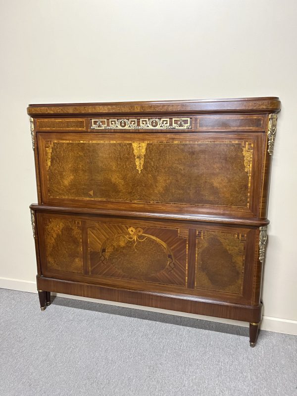
M 253 299 L 257 228 L 112 219 L 51 209 L 40 212 L 37 221 L 43 276 L 259 303 Z

